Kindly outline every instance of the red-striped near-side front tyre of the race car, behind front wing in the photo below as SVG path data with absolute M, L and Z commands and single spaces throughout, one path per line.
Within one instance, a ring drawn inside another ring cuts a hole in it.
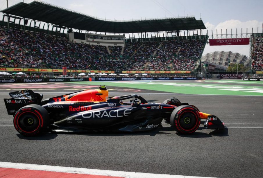
M 188 105 L 176 107 L 170 118 L 171 125 L 179 133 L 190 134 L 195 132 L 200 125 L 200 116 L 198 111 Z

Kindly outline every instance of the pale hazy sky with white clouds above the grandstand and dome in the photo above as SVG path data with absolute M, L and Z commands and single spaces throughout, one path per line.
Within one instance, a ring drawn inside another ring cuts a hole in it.
M 9 0 L 12 6 L 21 0 Z M 32 0 L 24 0 L 29 3 Z M 248 33 L 262 33 L 263 1 L 262 0 L 46 0 L 45 2 L 61 6 L 87 15 L 103 19 L 151 19 L 160 17 L 178 17 L 194 15 L 202 18 L 208 34 L 218 29 L 221 33 L 236 31 L 241 33 L 248 28 Z M 6 0 L 0 0 L 0 9 L 6 8 Z M 249 45 L 240 46 L 209 46 L 206 45 L 203 55 L 213 51 L 233 51 L 249 56 Z

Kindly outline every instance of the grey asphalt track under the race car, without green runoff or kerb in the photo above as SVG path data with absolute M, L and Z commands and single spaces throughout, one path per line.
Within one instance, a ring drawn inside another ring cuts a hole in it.
M 55 83 L 52 86 L 59 85 Z M 54 87 L 42 87 L 37 92 L 44 94 L 44 98 L 49 98 L 73 92 L 67 89 L 76 86 L 71 83 L 66 85 L 68 87 L 56 90 L 53 90 Z M 1 87 L 1 101 L 9 97 L 9 91 L 24 89 L 24 85 L 12 88 L 1 84 Z M 181 102 L 195 105 L 202 112 L 218 116 L 225 122 L 228 130 L 215 133 L 200 125 L 194 134 L 181 135 L 163 121 L 163 127 L 152 132 L 49 133 L 24 137 L 13 127 L 12 116 L 7 115 L 5 105 L 1 102 L 0 161 L 202 177 L 262 177 L 262 96 L 188 95 L 144 89 L 107 88 L 109 96 L 126 95 L 132 91 L 150 102 L 159 103 L 176 97 Z

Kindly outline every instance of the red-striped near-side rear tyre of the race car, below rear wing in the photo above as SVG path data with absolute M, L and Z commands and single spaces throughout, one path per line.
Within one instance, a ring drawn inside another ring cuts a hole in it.
M 27 105 L 20 108 L 14 116 L 17 132 L 34 136 L 45 131 L 49 124 L 49 113 L 40 105 Z

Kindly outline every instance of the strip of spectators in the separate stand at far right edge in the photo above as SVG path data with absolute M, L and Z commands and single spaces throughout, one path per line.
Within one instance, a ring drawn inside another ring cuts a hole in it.
M 256 71 L 263 70 L 263 37 L 253 38 L 252 68 Z

